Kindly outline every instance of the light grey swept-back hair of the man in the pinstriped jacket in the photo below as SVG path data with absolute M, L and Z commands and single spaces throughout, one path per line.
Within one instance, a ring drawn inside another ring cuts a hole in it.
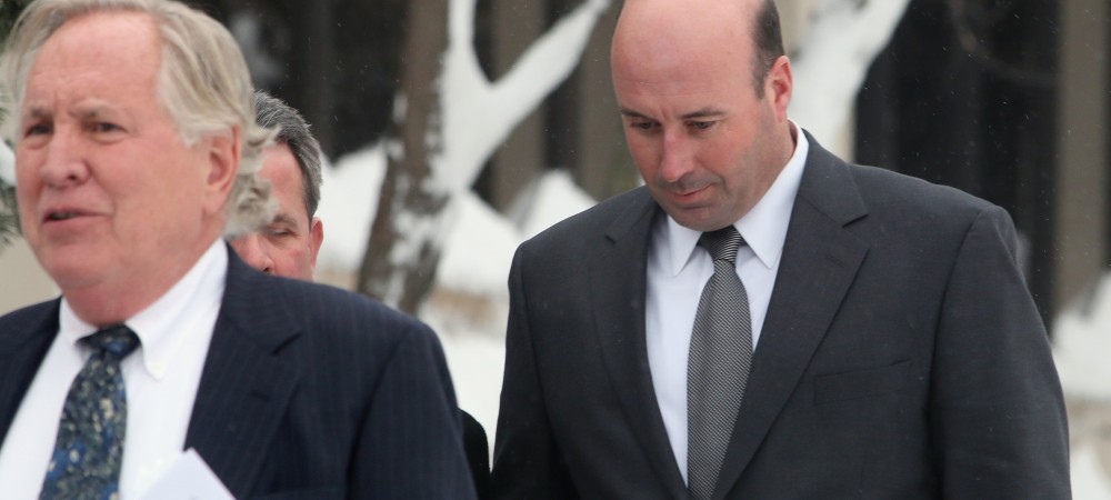
M 274 203 L 256 173 L 273 132 L 254 122 L 251 77 L 231 33 L 203 12 L 172 0 L 38 0 L 20 14 L 0 60 L 0 81 L 12 112 L 3 134 L 14 140 L 27 80 L 39 50 L 66 22 L 97 12 L 139 12 L 150 17 L 162 41 L 158 100 L 186 144 L 239 129 L 242 159 L 224 206 L 228 236 L 270 221 Z

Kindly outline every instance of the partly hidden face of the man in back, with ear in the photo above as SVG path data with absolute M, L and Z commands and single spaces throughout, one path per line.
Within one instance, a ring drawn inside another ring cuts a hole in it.
M 267 148 L 259 177 L 270 181 L 278 214 L 263 230 L 240 237 L 231 246 L 254 269 L 311 281 L 324 230 L 304 207 L 304 178 L 289 146 Z

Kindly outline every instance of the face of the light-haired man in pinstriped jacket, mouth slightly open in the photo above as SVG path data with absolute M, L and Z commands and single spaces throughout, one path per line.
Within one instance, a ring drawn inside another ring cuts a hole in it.
M 66 22 L 31 67 L 17 111 L 20 217 L 66 293 L 147 297 L 219 237 L 236 162 L 217 161 L 210 139 L 182 142 L 156 98 L 160 63 L 153 22 L 113 12 Z

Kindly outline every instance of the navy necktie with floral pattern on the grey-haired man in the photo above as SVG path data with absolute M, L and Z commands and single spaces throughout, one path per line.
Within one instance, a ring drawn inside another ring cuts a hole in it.
M 123 324 L 81 339 L 93 349 L 73 379 L 40 500 L 119 498 L 128 407 L 120 361 L 139 347 Z

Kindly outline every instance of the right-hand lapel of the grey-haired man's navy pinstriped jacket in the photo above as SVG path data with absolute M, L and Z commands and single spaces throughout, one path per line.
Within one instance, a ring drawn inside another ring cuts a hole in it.
M 299 331 L 266 277 L 228 252 L 228 283 L 186 448 L 197 449 L 232 494 L 243 498 L 297 386 L 297 373 L 276 353 Z

